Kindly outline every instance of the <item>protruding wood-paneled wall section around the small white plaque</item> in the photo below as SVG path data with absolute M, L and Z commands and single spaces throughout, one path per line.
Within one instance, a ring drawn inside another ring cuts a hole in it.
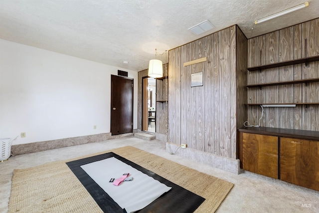
M 237 127 L 247 118 L 245 35 L 228 27 L 170 50 L 168 61 L 168 142 L 236 159 Z M 191 87 L 197 72 L 203 86 Z

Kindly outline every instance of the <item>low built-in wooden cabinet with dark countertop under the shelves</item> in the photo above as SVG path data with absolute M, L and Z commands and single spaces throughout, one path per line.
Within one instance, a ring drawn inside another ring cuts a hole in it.
M 319 131 L 238 129 L 241 168 L 319 191 Z

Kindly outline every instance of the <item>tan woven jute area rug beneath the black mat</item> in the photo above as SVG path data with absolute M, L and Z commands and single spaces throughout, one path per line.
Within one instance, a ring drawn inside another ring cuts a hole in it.
M 196 213 L 215 212 L 232 183 L 127 146 L 80 158 L 14 170 L 9 213 L 100 213 L 102 210 L 65 162 L 114 152 L 206 200 Z

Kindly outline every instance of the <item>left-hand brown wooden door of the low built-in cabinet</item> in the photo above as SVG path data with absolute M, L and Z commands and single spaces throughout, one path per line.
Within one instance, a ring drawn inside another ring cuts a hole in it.
M 243 169 L 278 179 L 278 137 L 243 133 Z

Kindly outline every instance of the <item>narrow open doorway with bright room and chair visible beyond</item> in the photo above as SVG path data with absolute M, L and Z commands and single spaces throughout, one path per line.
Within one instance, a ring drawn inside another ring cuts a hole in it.
M 143 78 L 142 131 L 156 132 L 156 79 Z

